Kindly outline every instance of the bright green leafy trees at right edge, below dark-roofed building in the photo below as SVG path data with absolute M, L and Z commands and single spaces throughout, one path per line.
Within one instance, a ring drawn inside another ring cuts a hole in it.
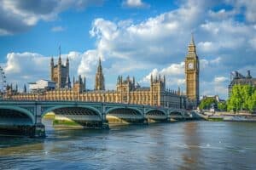
M 235 85 L 227 102 L 228 111 L 255 111 L 256 88 L 250 85 Z

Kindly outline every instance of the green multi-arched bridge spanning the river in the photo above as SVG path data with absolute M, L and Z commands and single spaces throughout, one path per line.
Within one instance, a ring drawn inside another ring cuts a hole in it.
M 195 112 L 183 109 L 154 107 L 151 105 L 128 105 L 120 103 L 80 101 L 0 101 L 0 129 L 19 130 L 28 136 L 45 135 L 42 117 L 54 112 L 83 127 L 108 128 L 107 116 L 115 116 L 125 122 L 170 122 L 171 120 L 192 120 L 200 118 Z

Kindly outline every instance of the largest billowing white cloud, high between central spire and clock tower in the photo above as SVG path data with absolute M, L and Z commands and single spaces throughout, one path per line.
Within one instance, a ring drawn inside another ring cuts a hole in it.
M 113 22 L 96 19 L 90 35 L 97 39 L 96 50 L 107 58 L 136 59 L 146 63 L 154 61 L 158 64 L 170 59 L 178 62 L 175 56 L 183 53 L 180 47 L 187 46 L 196 18 L 201 18 L 200 4 L 185 4 L 137 24 L 131 20 Z

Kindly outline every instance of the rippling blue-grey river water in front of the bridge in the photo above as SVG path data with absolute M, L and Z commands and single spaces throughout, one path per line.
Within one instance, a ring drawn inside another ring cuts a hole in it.
M 0 137 L 0 169 L 256 169 L 256 123 L 175 122 L 110 130 L 54 128 Z

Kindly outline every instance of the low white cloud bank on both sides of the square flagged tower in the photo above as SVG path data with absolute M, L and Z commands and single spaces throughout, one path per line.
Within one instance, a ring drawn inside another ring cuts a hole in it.
M 62 64 L 66 65 L 66 59 L 70 62 L 70 76 L 77 77 L 79 74 L 83 77 L 89 77 L 95 74 L 97 56 L 87 51 L 84 54 L 79 52 L 69 52 L 62 54 Z M 7 63 L 4 65 L 4 71 L 8 82 L 23 83 L 34 82 L 38 79 L 49 79 L 49 56 L 36 53 L 10 53 L 7 54 Z M 58 56 L 55 56 L 55 64 Z M 90 81 L 90 80 L 89 80 Z

